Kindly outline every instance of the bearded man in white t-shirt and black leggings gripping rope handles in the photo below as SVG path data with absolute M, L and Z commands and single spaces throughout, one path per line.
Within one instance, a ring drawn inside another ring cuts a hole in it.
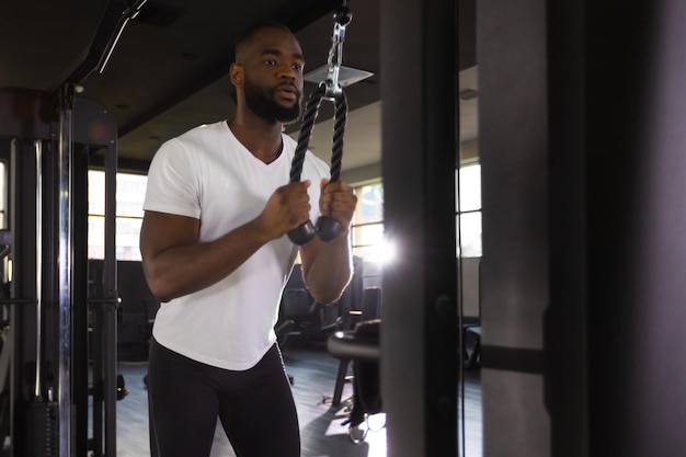
M 235 116 L 165 142 L 150 165 L 140 250 L 162 301 L 148 377 L 153 456 L 209 456 L 217 416 L 239 457 L 300 455 L 273 329 L 298 251 L 286 233 L 320 214 L 350 229 L 356 205 L 309 151 L 304 181 L 288 183 L 296 145 L 282 132 L 299 116 L 304 66 L 286 27 L 251 28 L 230 68 Z M 336 300 L 352 275 L 348 230 L 299 249 L 312 297 Z

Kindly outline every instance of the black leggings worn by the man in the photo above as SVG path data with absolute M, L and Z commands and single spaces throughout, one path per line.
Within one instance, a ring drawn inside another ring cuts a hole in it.
M 217 416 L 237 457 L 299 457 L 300 433 L 278 346 L 254 367 L 202 364 L 152 340 L 148 375 L 152 457 L 206 457 Z

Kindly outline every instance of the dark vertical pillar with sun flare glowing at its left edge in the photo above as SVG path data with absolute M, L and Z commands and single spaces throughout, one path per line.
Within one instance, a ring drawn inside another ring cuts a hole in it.
M 457 455 L 456 2 L 381 3 L 388 455 Z

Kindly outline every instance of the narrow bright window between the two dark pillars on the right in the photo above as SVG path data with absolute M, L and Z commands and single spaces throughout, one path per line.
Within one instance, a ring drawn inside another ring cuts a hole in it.
M 481 165 L 469 164 L 455 171 L 457 252 L 462 258 L 480 258 L 481 249 Z M 459 184 L 459 185 L 458 185 Z

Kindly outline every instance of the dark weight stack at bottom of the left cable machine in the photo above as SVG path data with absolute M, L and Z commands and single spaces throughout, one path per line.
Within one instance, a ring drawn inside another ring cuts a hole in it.
M 59 411 L 55 401 L 35 401 L 26 411 L 26 457 L 57 457 Z

